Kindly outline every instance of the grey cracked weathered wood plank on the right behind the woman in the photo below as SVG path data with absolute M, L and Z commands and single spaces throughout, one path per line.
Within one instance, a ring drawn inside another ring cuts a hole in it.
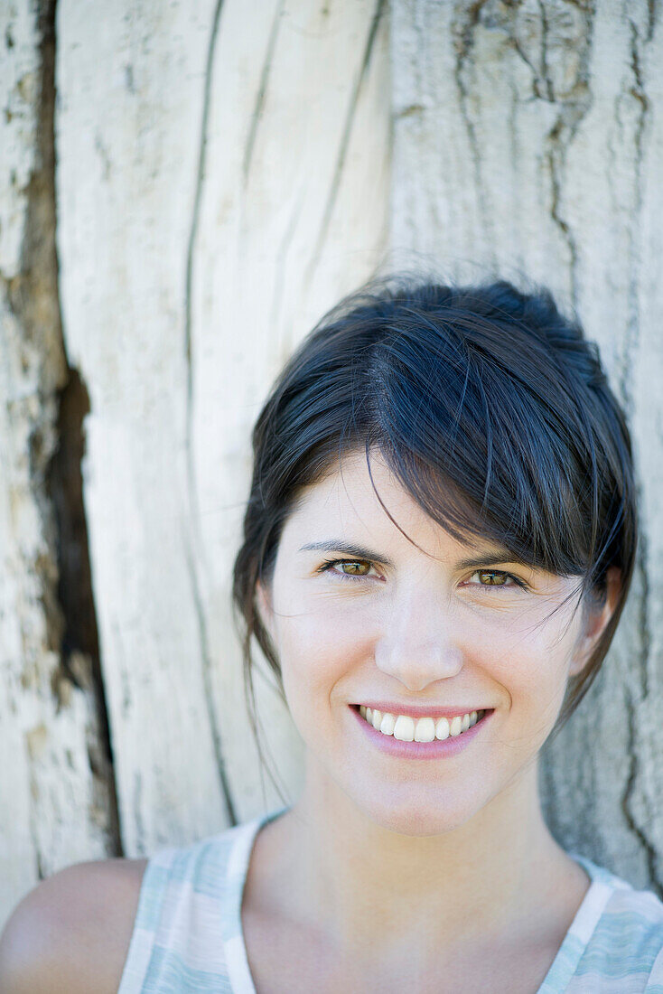
M 552 287 L 635 437 L 642 546 L 601 676 L 546 755 L 549 821 L 663 894 L 663 25 L 659 2 L 395 0 L 393 245 Z

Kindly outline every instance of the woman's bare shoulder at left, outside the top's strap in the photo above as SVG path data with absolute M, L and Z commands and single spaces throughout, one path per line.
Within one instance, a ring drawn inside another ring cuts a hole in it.
M 38 884 L 0 935 L 0 990 L 116 994 L 146 865 L 77 863 Z

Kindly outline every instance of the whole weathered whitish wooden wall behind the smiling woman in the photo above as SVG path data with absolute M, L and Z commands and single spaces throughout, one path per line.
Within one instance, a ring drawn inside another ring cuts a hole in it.
M 661 888 L 660 4 L 387 8 L 0 10 L 0 924 L 61 866 L 279 802 L 230 613 L 249 429 L 386 248 L 540 279 L 601 346 L 643 544 L 542 786 L 565 845 Z M 256 690 L 292 792 L 300 742 Z

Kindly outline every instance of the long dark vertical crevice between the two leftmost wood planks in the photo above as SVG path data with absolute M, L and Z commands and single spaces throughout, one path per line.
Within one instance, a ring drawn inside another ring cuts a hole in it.
M 101 674 L 96 629 L 96 613 L 92 593 L 87 528 L 83 507 L 82 460 L 84 453 L 83 418 L 89 411 L 89 400 L 77 370 L 67 361 L 58 283 L 58 253 L 56 248 L 55 191 L 55 65 L 56 65 L 56 0 L 43 0 L 39 8 L 41 38 L 41 105 L 38 128 L 39 171 L 35 177 L 35 210 L 29 211 L 24 247 L 26 270 L 43 280 L 49 275 L 48 310 L 52 324 L 51 349 L 57 344 L 61 376 L 54 384 L 56 438 L 54 451 L 44 462 L 43 490 L 45 512 L 53 521 L 57 559 L 57 585 L 53 581 L 53 625 L 60 654 L 59 672 L 52 681 L 61 704 L 63 683 L 73 684 L 91 696 L 96 711 L 98 741 L 87 742 L 88 760 L 99 791 L 99 806 L 104 810 L 108 855 L 121 856 L 122 846 L 117 810 L 112 747 Z M 35 314 L 37 321 L 42 314 Z M 25 321 L 25 314 L 24 314 Z M 35 329 L 36 331 L 36 329 Z M 48 348 L 45 350 L 48 353 Z M 51 357 L 45 354 L 44 361 Z M 32 439 L 33 472 L 42 462 L 42 441 L 39 434 Z M 45 584 L 47 588 L 49 584 Z M 84 813 L 82 812 L 84 817 Z

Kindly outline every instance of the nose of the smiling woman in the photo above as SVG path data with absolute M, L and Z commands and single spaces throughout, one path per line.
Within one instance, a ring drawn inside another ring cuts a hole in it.
M 456 676 L 463 666 L 450 604 L 425 588 L 402 591 L 390 604 L 375 645 L 378 669 L 416 692 Z

